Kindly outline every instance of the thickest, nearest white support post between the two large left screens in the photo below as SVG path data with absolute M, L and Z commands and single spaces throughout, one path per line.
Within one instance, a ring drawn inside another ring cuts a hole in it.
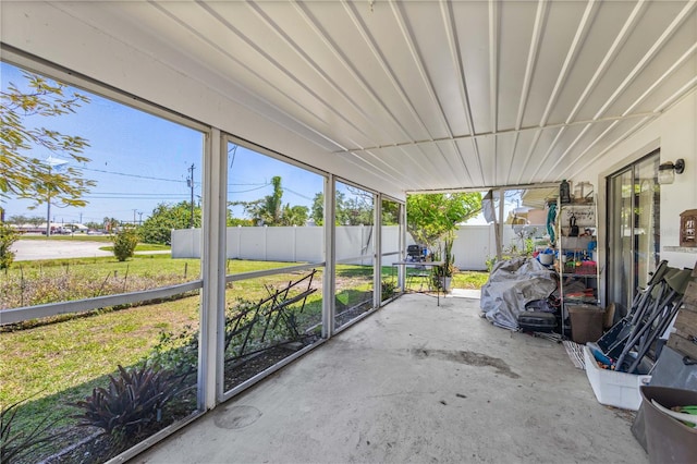
M 222 398 L 225 323 L 225 210 L 228 160 L 219 130 L 206 136 L 203 167 L 203 244 L 198 404 L 210 410 Z

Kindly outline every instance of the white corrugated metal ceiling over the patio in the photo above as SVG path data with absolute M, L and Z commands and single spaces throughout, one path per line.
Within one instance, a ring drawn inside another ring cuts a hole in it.
M 402 192 L 577 178 L 697 86 L 693 1 L 51 8 Z

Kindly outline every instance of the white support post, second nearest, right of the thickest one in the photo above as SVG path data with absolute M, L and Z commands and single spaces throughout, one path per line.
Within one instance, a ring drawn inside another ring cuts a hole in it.
M 334 334 L 334 292 L 337 267 L 335 217 L 337 182 L 332 174 L 325 179 L 325 273 L 322 281 L 322 337 Z

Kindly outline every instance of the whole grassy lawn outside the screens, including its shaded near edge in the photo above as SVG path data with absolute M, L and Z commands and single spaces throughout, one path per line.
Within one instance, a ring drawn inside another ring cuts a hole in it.
M 292 266 L 291 262 L 228 261 L 228 273 L 242 273 Z M 391 267 L 382 269 L 383 279 L 392 279 Z M 171 259 L 169 255 L 137 256 L 125 262 L 114 258 L 75 258 L 47 261 L 23 261 L 13 266 L 3 278 L 25 280 L 51 273 L 70 273 L 76 281 L 105 276 L 130 276 L 130 279 L 161 274 L 176 276 L 181 281 L 198 278 L 198 259 Z M 347 304 L 350 295 L 358 297 L 372 286 L 372 268 L 369 266 L 339 265 L 337 269 L 338 301 Z M 269 295 L 304 272 L 282 273 L 265 278 L 233 282 L 227 291 L 228 306 L 237 297 L 258 301 Z M 453 278 L 454 288 L 479 288 L 486 281 L 486 272 L 458 272 Z M 0 281 L 0 291 L 2 282 Z M 321 289 L 321 269 L 315 282 Z M 154 280 L 157 282 L 157 280 Z M 343 300 L 342 300 L 343 298 Z M 346 301 L 344 301 L 346 300 Z M 69 417 L 75 413 L 69 403 L 89 394 L 94 387 L 106 387 L 106 376 L 115 371 L 117 365 L 129 366 L 145 358 L 158 342 L 162 332 L 181 333 L 187 327 L 196 330 L 199 319 L 198 295 L 180 300 L 148 304 L 119 310 L 98 310 L 56 323 L 39 325 L 24 330 L 0 329 L 0 404 L 30 398 L 17 416 L 17 424 L 37 424 L 47 411 Z M 308 298 L 303 318 L 317 321 L 315 313 L 321 310 L 321 292 Z M 10 306 L 14 307 L 14 306 Z M 309 323 L 309 322 L 308 322 Z M 316 323 L 316 322 L 313 322 Z

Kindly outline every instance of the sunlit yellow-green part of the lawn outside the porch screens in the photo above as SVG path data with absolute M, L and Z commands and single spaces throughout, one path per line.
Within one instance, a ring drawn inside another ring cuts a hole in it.
M 288 262 L 229 261 L 229 273 L 241 273 L 289 266 Z M 54 267 L 60 272 L 70 269 L 78 276 L 108 273 L 151 276 L 174 273 L 185 280 L 196 279 L 199 273 L 197 259 L 170 259 L 169 256 L 152 255 L 126 262 L 113 258 L 68 259 L 58 261 L 34 261 L 24 265 L 24 274 L 46 272 Z M 19 272 L 16 267 L 12 272 Z M 369 291 L 370 267 L 340 265 L 338 279 L 345 282 L 344 291 Z M 383 277 L 391 278 L 392 269 L 383 268 Z M 476 289 L 486 281 L 486 272 L 457 272 L 454 288 Z M 268 289 L 280 286 L 296 279 L 281 274 L 234 282 L 228 291 L 229 304 L 236 297 L 257 301 L 268 295 Z M 321 279 L 321 271 L 318 274 Z M 341 289 L 340 289 L 341 291 Z M 345 302 L 344 302 L 345 303 Z M 142 358 L 158 338 L 160 331 L 181 329 L 198 322 L 198 296 L 138 306 L 118 312 L 97 312 L 89 317 L 78 317 L 60 323 L 35 327 L 27 330 L 0 332 L 3 356 L 0 359 L 0 402 L 8 403 L 37 392 L 52 394 L 88 379 L 111 373 L 113 359 L 131 364 Z M 80 365 L 80 369 L 75 366 Z

